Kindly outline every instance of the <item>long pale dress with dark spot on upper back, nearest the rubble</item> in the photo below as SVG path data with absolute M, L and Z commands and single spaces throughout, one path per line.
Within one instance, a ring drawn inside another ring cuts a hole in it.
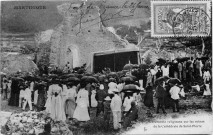
M 53 120 L 65 121 L 66 116 L 61 98 L 62 88 L 57 84 L 53 84 L 49 87 L 49 90 L 52 92 L 52 99 L 50 103 L 50 117 Z

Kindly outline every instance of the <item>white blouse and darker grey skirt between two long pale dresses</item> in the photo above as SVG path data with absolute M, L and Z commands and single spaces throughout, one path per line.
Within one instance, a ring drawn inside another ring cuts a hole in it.
M 77 93 L 75 87 L 67 90 L 67 99 L 65 101 L 65 114 L 67 114 L 69 118 L 73 118 L 73 114 L 76 107 L 75 103 L 76 96 Z

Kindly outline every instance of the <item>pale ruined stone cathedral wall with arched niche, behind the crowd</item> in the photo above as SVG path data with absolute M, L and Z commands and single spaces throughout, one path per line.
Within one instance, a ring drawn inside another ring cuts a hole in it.
M 85 3 L 59 5 L 63 21 L 52 33 L 50 64 L 63 67 L 67 62 L 78 67 L 91 62 L 93 52 L 135 47 L 124 42 L 113 27 L 102 25 L 98 6 L 88 9 Z

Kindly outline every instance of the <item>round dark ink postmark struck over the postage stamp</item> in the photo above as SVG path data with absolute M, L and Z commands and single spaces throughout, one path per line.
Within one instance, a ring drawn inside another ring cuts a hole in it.
M 170 19 L 174 37 L 182 44 L 201 45 L 211 36 L 211 19 L 203 9 L 188 7 Z

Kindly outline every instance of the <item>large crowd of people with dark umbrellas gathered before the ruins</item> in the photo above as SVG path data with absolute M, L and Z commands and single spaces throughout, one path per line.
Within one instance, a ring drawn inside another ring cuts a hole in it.
M 68 63 L 69 64 L 69 63 Z M 65 66 L 65 73 L 69 65 Z M 53 71 L 52 73 L 56 73 Z M 174 60 L 172 62 L 158 62 L 154 66 L 136 67 L 110 75 L 107 71 L 99 73 L 96 79 L 85 80 L 73 79 L 64 81 L 59 75 L 45 75 L 50 77 L 50 81 L 37 79 L 14 79 L 3 77 L 2 93 L 3 99 L 9 98 L 10 106 L 18 106 L 23 110 L 29 105 L 30 110 L 43 111 L 50 113 L 54 120 L 65 121 L 77 119 L 78 121 L 89 121 L 91 119 L 91 108 L 97 108 L 96 117 L 101 113 L 104 115 L 106 127 L 109 127 L 110 118 L 113 119 L 113 127 L 118 130 L 122 127 L 127 128 L 131 121 L 138 118 L 138 105 L 144 103 L 148 108 L 155 107 L 153 98 L 157 98 L 156 113 L 162 109 L 166 114 L 168 106 L 172 107 L 173 112 L 179 112 L 179 99 L 184 97 L 186 92 L 185 84 L 191 85 L 189 92 L 200 92 L 196 78 L 200 77 L 204 83 L 203 95 L 211 96 L 211 60 L 187 59 L 184 61 Z M 74 74 L 74 73 L 73 73 Z M 100 76 L 104 76 L 99 80 Z M 168 78 L 163 78 L 168 76 Z M 73 76 L 72 76 L 73 77 Z M 130 79 L 122 79 L 129 77 Z M 169 83 L 170 78 L 179 79 L 179 82 Z M 161 80 L 156 84 L 157 80 Z M 123 92 L 127 85 L 134 85 L 136 90 Z M 141 93 L 145 93 L 142 96 Z M 8 93 L 10 93 L 8 95 Z M 169 102 L 167 102 L 169 101 Z M 166 104 L 170 103 L 170 104 Z

